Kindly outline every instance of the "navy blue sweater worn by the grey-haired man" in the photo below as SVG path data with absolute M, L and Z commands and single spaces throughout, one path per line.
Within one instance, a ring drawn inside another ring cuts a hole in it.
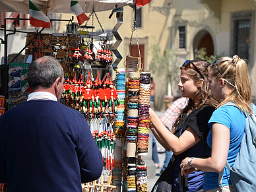
M 84 117 L 31 100 L 0 117 L 0 183 L 8 191 L 82 191 L 102 174 L 102 154 Z

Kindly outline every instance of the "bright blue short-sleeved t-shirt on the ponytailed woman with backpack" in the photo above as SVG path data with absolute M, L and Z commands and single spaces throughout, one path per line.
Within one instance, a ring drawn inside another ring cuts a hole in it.
M 220 123 L 226 125 L 230 129 L 230 147 L 228 150 L 228 164 L 233 166 L 236 156 L 240 150 L 241 140 L 245 131 L 245 115 L 235 106 L 221 106 L 212 113 L 212 117 L 208 121 L 210 132 L 207 137 L 207 144 L 212 147 L 212 123 Z M 230 172 L 225 166 L 223 172 L 222 185 L 228 185 L 230 181 Z M 205 172 L 203 189 L 218 188 L 218 173 Z

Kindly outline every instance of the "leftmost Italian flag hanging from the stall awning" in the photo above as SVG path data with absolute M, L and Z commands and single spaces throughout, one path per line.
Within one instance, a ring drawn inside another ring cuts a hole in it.
M 44 15 L 31 1 L 29 1 L 29 20 L 32 26 L 51 28 L 48 16 Z

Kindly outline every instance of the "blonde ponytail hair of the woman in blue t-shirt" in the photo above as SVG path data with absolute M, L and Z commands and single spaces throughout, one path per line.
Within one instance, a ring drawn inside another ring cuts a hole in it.
M 235 55 L 234 55 L 235 56 Z M 237 56 L 237 55 L 236 55 Z M 221 78 L 228 82 L 226 86 L 232 92 L 217 106 L 223 106 L 228 102 L 234 102 L 241 111 L 252 112 L 251 110 L 251 82 L 246 62 L 240 57 L 220 57 L 216 63 L 210 65 L 212 77 L 216 80 Z

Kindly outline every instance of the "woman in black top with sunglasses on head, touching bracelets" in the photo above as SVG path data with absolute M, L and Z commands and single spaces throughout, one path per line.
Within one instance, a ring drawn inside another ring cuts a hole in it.
M 171 131 L 166 129 L 158 115 L 150 109 L 152 133 L 166 150 L 172 150 L 168 167 L 161 174 L 152 191 L 200 191 L 203 189 L 204 172 L 198 171 L 181 176 L 179 164 L 187 156 L 208 157 L 210 148 L 206 139 L 208 119 L 217 105 L 208 92 L 207 67 L 205 60 L 187 60 L 181 67 L 178 86 L 183 97 L 189 98 L 187 106 L 177 117 Z

